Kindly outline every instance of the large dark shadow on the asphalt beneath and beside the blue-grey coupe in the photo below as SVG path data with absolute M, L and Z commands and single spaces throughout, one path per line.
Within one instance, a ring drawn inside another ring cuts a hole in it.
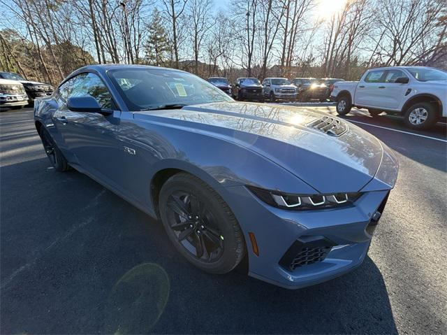
M 302 290 L 187 263 L 163 227 L 44 159 L 1 168 L 1 333 L 396 334 L 379 269 Z M 23 192 L 29 190 L 29 192 Z

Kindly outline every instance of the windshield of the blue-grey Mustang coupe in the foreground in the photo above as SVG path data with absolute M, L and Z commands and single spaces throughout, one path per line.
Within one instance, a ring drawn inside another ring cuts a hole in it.
M 117 69 L 109 71 L 108 76 L 129 111 L 233 101 L 219 88 L 190 73 L 166 69 Z

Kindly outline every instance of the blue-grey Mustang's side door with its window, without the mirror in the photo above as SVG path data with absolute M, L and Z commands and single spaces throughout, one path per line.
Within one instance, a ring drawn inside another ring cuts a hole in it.
M 54 113 L 54 124 L 64 140 L 64 147 L 71 153 L 71 164 L 78 165 L 94 177 L 117 187 L 117 160 L 123 148 L 117 139 L 120 111 L 108 88 L 95 73 L 80 73 L 71 78 L 70 97 L 94 97 L 108 113 L 75 112 L 67 108 L 62 99 Z M 69 162 L 70 162 L 69 160 Z

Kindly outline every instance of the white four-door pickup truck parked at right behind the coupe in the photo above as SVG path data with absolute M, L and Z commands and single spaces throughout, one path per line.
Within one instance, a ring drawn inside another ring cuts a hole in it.
M 330 98 L 340 115 L 367 108 L 373 116 L 398 113 L 408 127 L 427 129 L 447 116 L 447 72 L 425 66 L 369 69 L 360 81 L 335 83 Z

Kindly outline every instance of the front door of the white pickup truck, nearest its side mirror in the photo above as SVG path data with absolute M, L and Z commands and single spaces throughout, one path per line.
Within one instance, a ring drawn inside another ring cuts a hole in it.
M 399 109 L 408 89 L 408 83 L 396 83 L 397 78 L 408 78 L 408 76 L 400 69 L 386 71 L 384 83 L 381 84 L 381 87 L 383 87 L 381 89 L 381 99 L 377 101 L 377 106 L 385 109 Z

